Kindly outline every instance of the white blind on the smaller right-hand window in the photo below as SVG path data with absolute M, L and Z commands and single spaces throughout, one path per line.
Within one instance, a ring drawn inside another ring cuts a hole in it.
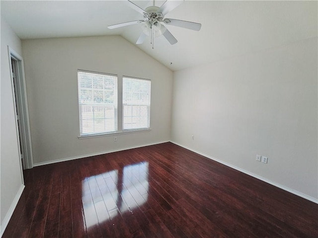
M 151 81 L 123 77 L 123 130 L 150 128 Z

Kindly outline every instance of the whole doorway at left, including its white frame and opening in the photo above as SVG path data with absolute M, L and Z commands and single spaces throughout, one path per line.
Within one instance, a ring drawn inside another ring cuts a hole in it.
M 26 87 L 24 79 L 23 59 L 16 52 L 8 47 L 10 56 L 11 84 L 14 96 L 16 112 L 16 131 L 18 137 L 18 147 L 20 149 L 20 159 L 23 169 L 33 167 L 31 136 L 29 126 L 29 115 L 26 98 Z

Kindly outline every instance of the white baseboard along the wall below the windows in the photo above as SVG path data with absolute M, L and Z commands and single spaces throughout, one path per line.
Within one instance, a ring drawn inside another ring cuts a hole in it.
M 125 151 L 125 150 L 145 147 L 145 146 L 153 146 L 153 145 L 166 143 L 166 142 L 170 142 L 170 141 L 161 141 L 161 142 L 155 142 L 155 143 L 150 143 L 150 144 L 125 147 L 125 148 L 120 148 L 120 149 L 116 149 L 116 150 L 102 151 L 102 152 L 97 152 L 97 153 L 92 153 L 92 154 L 87 154 L 87 155 L 69 157 L 69 158 L 64 158 L 64 159 L 55 159 L 55 160 L 50 160 L 50 161 L 45 161 L 45 162 L 40 162 L 40 163 L 33 163 L 33 166 L 41 166 L 41 165 L 46 165 L 46 164 L 51 164 L 51 163 L 58 163 L 58 162 L 73 160 L 73 159 L 82 159 L 82 158 L 91 157 L 91 156 L 99 156 L 99 155 L 109 154 L 109 153 L 118 152 L 118 151 Z

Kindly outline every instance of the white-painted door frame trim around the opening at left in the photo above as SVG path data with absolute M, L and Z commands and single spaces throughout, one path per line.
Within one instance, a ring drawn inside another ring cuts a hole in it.
M 17 115 L 16 115 L 16 103 L 15 103 L 15 93 L 14 93 L 14 83 L 13 83 L 13 75 L 12 75 L 12 64 L 11 59 L 16 61 L 16 81 L 17 81 L 17 92 L 19 95 L 17 99 L 19 100 L 18 104 L 20 105 L 20 122 L 21 122 L 21 144 L 24 147 L 23 158 L 19 155 L 19 160 L 23 164 L 23 169 L 33 168 L 33 155 L 32 155 L 32 146 L 31 146 L 31 134 L 30 134 L 30 124 L 29 124 L 29 113 L 28 113 L 28 103 L 26 98 L 26 87 L 25 87 L 25 78 L 24 78 L 24 66 L 23 66 L 23 58 L 17 54 L 14 50 L 12 50 L 8 46 L 8 58 L 9 58 L 9 67 L 10 67 L 10 77 L 11 77 L 11 88 L 12 88 L 12 99 L 14 105 L 14 117 L 15 117 L 15 127 L 17 133 L 17 143 L 20 152 L 20 137 L 19 137 L 19 129 L 17 123 Z M 20 153 L 19 153 L 20 154 Z

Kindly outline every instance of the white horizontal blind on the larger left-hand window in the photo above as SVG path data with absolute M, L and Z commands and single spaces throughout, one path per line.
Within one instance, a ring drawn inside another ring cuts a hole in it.
M 78 71 L 80 135 L 117 131 L 117 76 Z

